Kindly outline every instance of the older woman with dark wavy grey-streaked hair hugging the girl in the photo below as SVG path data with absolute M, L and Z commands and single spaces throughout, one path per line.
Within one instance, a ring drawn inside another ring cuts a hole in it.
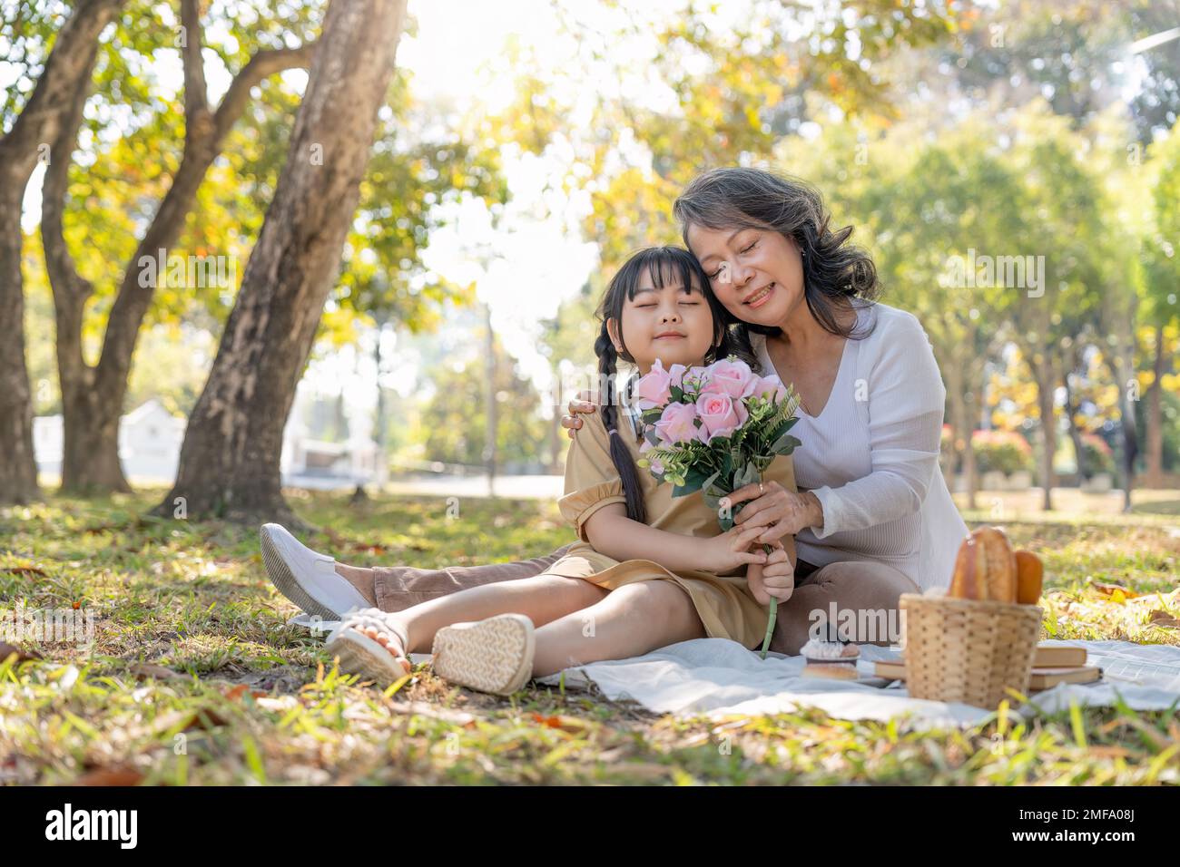
M 780 599 L 772 650 L 798 653 L 827 624 L 845 641 L 898 639 L 898 597 L 950 583 L 966 525 L 938 466 L 945 388 L 910 313 L 877 302 L 872 261 L 828 228 L 808 185 L 759 169 L 716 169 L 693 180 L 674 212 L 684 243 L 763 370 L 800 398 L 792 429 L 799 490 L 750 485 L 739 524 L 761 541 L 795 536 L 793 589 Z M 576 435 L 573 401 L 563 425 Z M 722 504 L 723 505 L 723 504 Z M 464 587 L 539 574 L 565 551 L 509 564 L 360 569 L 263 528 L 275 584 L 303 609 L 335 618 L 352 607 L 400 611 Z

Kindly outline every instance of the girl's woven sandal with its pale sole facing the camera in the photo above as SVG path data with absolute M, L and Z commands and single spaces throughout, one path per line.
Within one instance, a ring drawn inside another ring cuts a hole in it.
M 439 677 L 480 692 L 512 695 L 532 677 L 532 620 L 497 615 L 444 626 L 434 633 L 431 663 Z

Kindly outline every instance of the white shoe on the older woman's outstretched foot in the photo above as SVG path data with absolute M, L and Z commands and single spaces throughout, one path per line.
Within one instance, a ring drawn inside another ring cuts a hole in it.
M 304 611 L 339 620 L 352 609 L 372 607 L 361 591 L 336 574 L 333 558 L 303 545 L 281 524 L 263 524 L 258 541 L 271 583 Z

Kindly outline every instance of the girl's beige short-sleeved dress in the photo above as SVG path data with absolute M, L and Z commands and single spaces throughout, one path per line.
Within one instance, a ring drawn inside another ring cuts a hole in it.
M 673 580 L 693 600 L 696 613 L 710 638 L 729 638 L 742 646 L 761 648 L 766 636 L 769 607 L 761 605 L 746 583 L 746 567 L 726 574 L 699 570 L 673 572 L 653 560 L 618 561 L 590 546 L 585 523 L 599 508 L 624 503 L 623 485 L 610 459 L 610 445 L 601 413 L 583 415 L 583 425 L 570 446 L 565 460 L 565 495 L 558 501 L 562 514 L 577 527 L 581 541 L 569 553 L 545 570 L 549 574 L 584 578 L 608 590 L 624 584 L 649 580 Z M 638 441 L 625 413 L 620 413 L 618 436 L 638 459 Z M 713 537 L 721 533 L 716 512 L 706 504 L 700 491 L 687 497 L 673 497 L 670 482 L 658 484 L 651 472 L 637 467 L 647 506 L 648 524 L 680 536 Z M 795 490 L 794 467 L 789 457 L 778 457 L 763 473 L 763 481 L 778 481 Z M 673 543 L 674 544 L 674 543 Z M 795 559 L 794 538 L 782 544 Z

